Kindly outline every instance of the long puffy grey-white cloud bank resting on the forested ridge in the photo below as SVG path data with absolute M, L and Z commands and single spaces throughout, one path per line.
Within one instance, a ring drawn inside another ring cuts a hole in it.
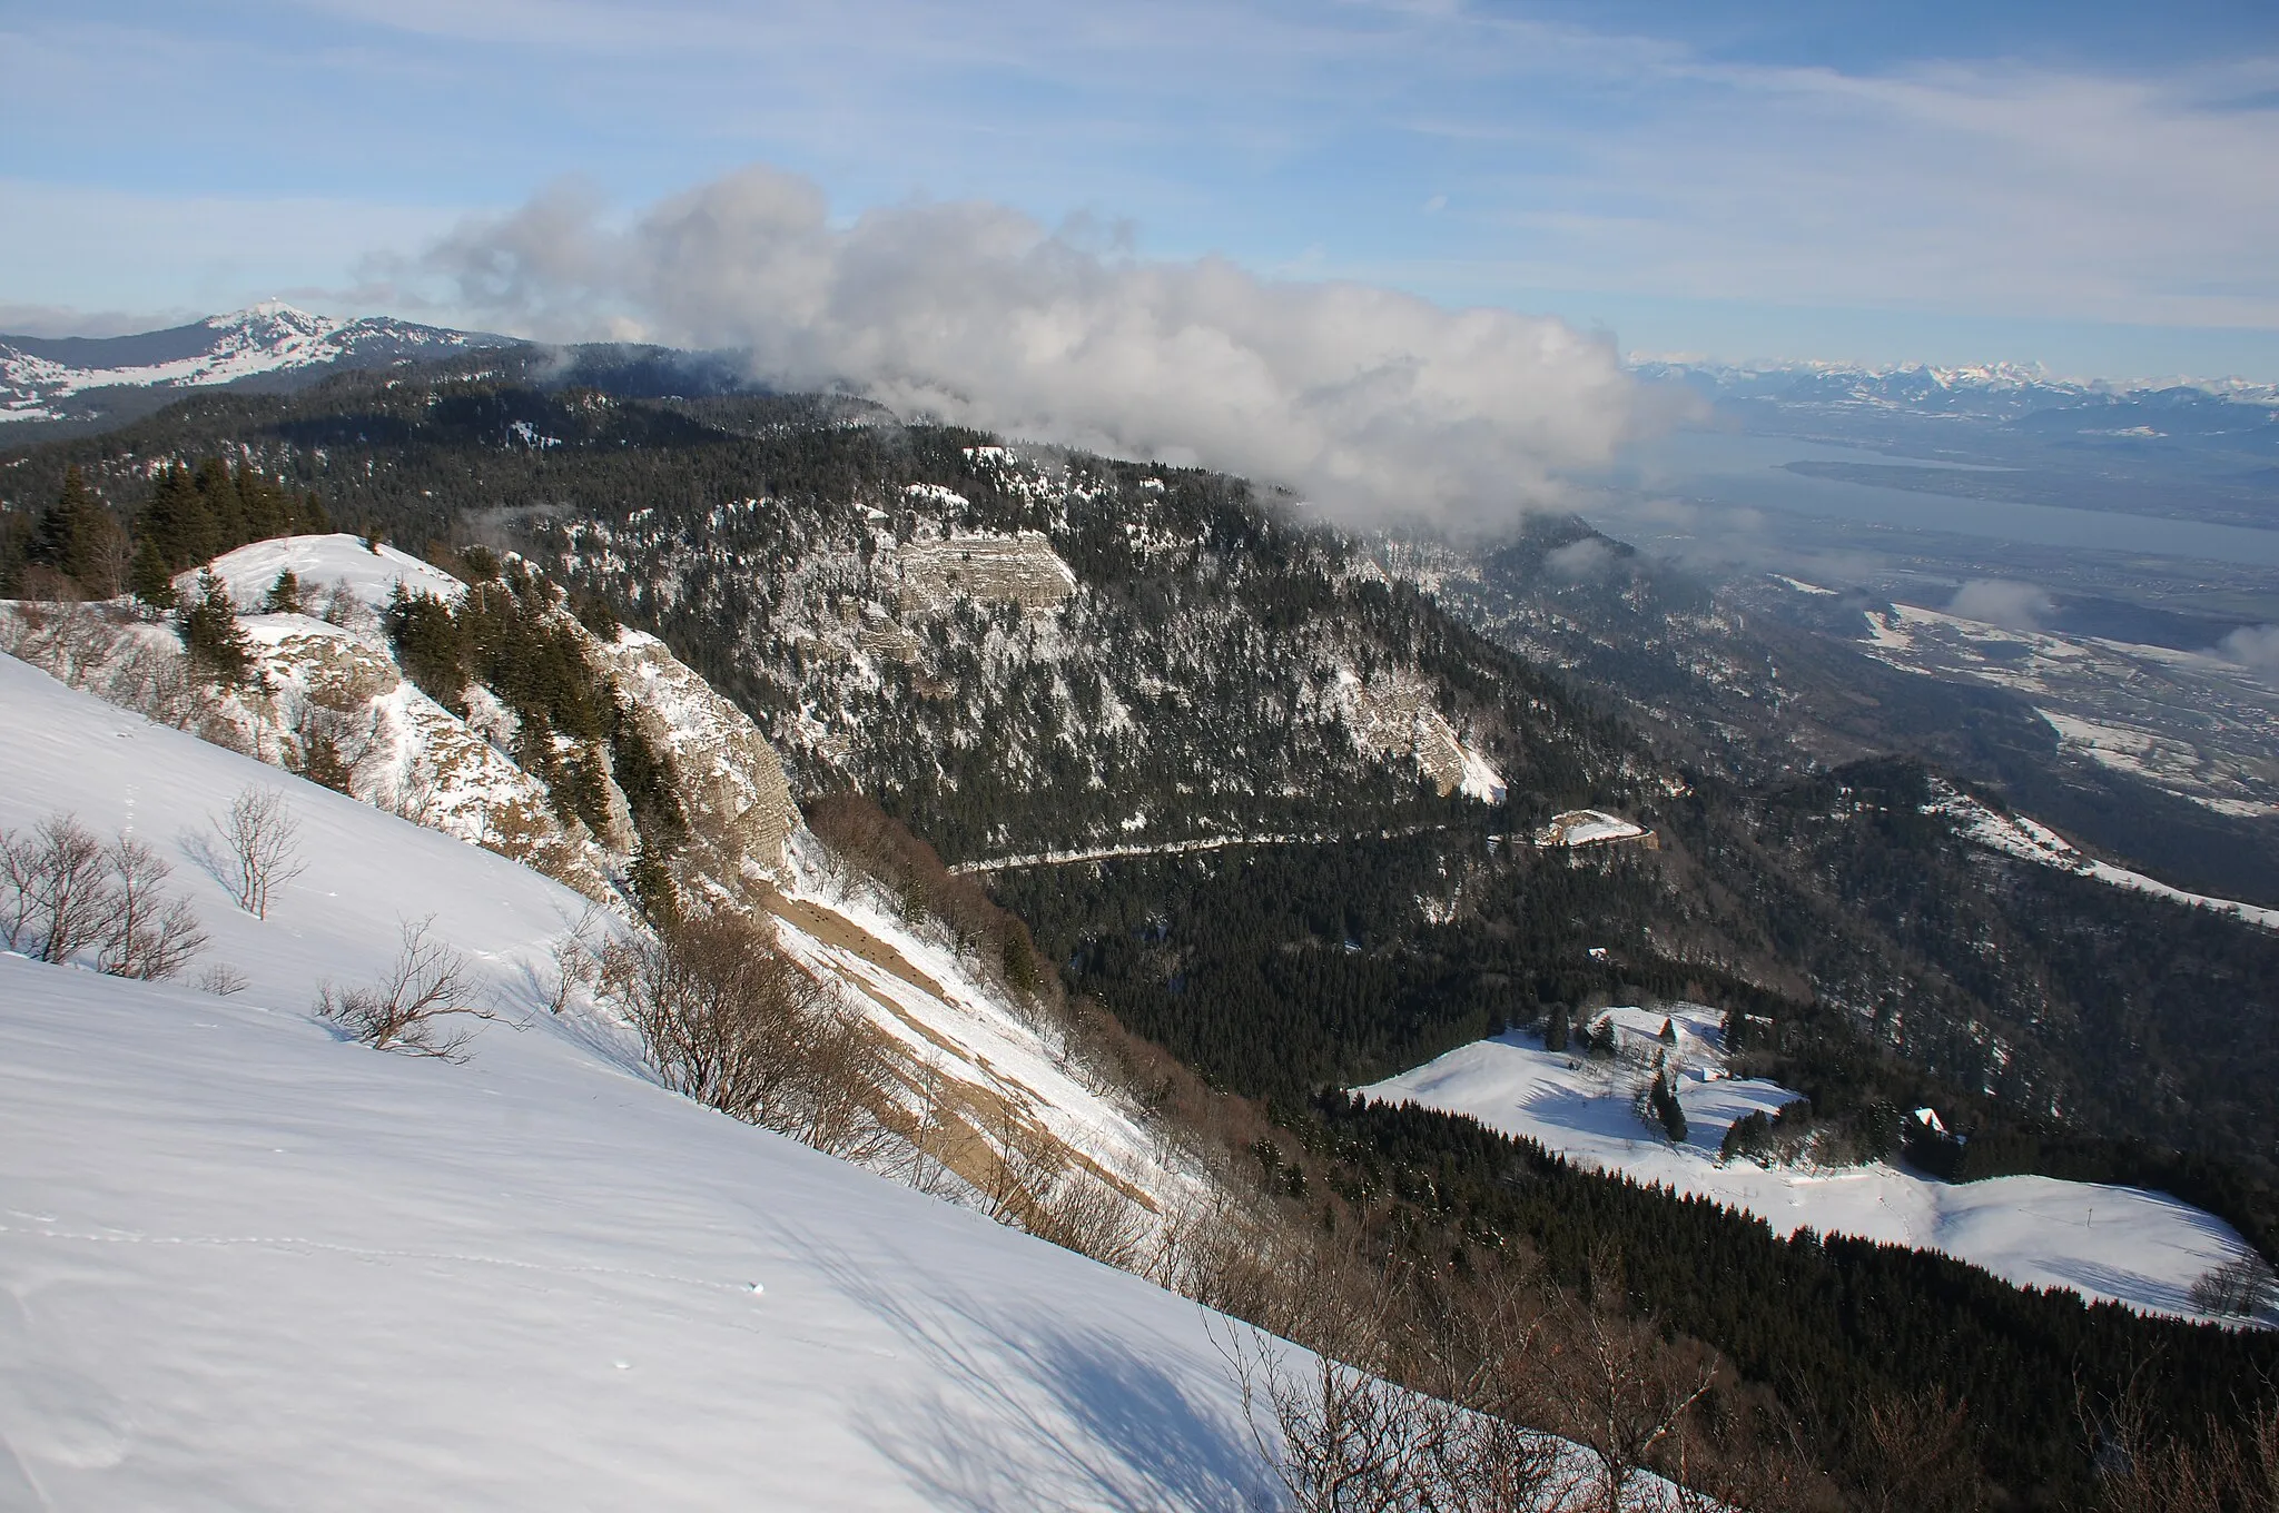
M 1561 499 L 1557 474 L 1604 463 L 1636 415 L 1614 342 L 1554 319 L 1140 260 L 989 203 L 841 228 L 814 182 L 773 169 L 631 223 L 556 189 L 460 226 L 419 276 L 538 337 L 736 349 L 773 385 L 1201 463 L 1351 524 L 1511 520 Z

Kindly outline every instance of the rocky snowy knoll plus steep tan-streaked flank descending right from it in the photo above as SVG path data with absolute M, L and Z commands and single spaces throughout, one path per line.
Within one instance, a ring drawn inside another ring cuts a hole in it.
M 251 613 L 285 570 L 312 613 Z M 239 624 L 262 686 L 205 700 L 187 715 L 191 729 L 294 770 L 305 768 L 310 729 L 330 729 L 351 756 L 342 782 L 356 798 L 627 911 L 620 882 L 638 841 L 622 798 L 604 834 L 565 818 L 547 784 L 517 766 L 513 711 L 472 686 L 460 718 L 392 659 L 378 611 L 397 586 L 456 602 L 465 583 L 353 535 L 255 542 L 217 558 L 212 572 L 246 611 Z M 178 586 L 191 595 L 196 581 L 187 572 Z M 1042 1148 L 1121 1192 L 1142 1244 L 1174 1215 L 1208 1205 L 1212 1189 L 1196 1158 L 1146 1126 L 1112 1078 L 1087 1069 L 1057 1019 L 802 832 L 775 750 L 736 704 L 654 636 L 604 640 L 565 611 L 554 615 L 672 761 L 686 816 L 672 868 L 684 895 L 768 916 L 784 946 L 871 1021 L 957 1178 L 987 1187 L 1003 1176 L 994 1162 L 1007 1142 Z M 114 633 L 123 647 L 173 656 L 166 627 L 128 622 Z M 75 677 L 109 686 L 100 670 Z

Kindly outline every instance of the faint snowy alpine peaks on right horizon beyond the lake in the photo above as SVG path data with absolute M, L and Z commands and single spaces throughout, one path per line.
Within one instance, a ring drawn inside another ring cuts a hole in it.
M 2008 419 L 2047 408 L 2078 406 L 2179 406 L 2245 403 L 2279 408 L 2279 385 L 2243 378 L 2170 378 L 2115 383 L 2058 378 L 2037 362 L 1983 362 L 1930 367 L 1898 362 L 1855 367 L 1844 362 L 1675 362 L 1632 360 L 1648 383 L 1682 383 L 1714 401 L 1766 401 L 1775 406 L 1832 406 L 1846 410 L 1903 410 L 1917 415 L 1974 415 Z M 2261 419 L 2261 417 L 2258 417 Z

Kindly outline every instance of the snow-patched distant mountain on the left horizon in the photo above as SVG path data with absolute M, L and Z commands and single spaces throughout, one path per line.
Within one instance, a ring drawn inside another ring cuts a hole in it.
M 130 337 L 0 335 L 0 422 L 119 419 L 121 410 L 141 412 L 171 399 L 166 390 L 315 378 L 340 367 L 508 344 L 510 337 L 390 317 L 344 321 L 280 301 Z

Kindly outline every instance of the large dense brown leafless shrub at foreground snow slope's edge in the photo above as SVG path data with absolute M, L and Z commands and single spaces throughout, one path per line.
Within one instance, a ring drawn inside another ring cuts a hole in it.
M 615 941 L 597 987 L 675 1091 L 848 1160 L 893 1144 L 877 1041 L 759 927 L 693 918 Z

